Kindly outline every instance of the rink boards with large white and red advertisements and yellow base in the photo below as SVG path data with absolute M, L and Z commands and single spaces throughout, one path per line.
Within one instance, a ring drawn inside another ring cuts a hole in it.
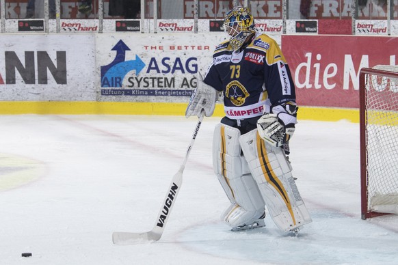
M 196 75 L 224 40 L 220 33 L 3 37 L 2 114 L 184 115 Z M 396 64 L 398 54 L 390 36 L 272 37 L 291 67 L 303 120 L 358 122 L 360 68 Z

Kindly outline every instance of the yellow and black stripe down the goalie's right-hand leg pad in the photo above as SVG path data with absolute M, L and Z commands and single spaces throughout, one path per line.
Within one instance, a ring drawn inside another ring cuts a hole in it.
M 296 225 L 289 195 L 287 194 L 287 191 L 284 189 L 284 186 L 280 182 L 279 178 L 275 175 L 274 170 L 271 167 L 271 163 L 269 163 L 269 158 L 267 156 L 267 148 L 265 148 L 265 142 L 262 141 L 258 133 L 256 134 L 256 137 L 257 137 L 256 143 L 257 143 L 258 160 L 260 162 L 261 169 L 263 170 L 264 178 L 265 180 L 267 180 L 269 184 L 271 184 L 271 186 L 274 187 L 274 189 L 276 189 L 276 191 L 278 191 L 280 196 L 283 198 L 284 203 L 286 204 L 287 209 L 291 214 L 291 219 L 293 220 L 294 225 Z

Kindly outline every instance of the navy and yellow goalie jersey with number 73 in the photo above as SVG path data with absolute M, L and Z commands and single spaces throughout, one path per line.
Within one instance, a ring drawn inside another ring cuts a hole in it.
M 270 112 L 271 106 L 294 102 L 295 87 L 287 61 L 276 41 L 256 33 L 246 48 L 233 51 L 219 44 L 204 83 L 224 94 L 224 111 L 233 120 Z

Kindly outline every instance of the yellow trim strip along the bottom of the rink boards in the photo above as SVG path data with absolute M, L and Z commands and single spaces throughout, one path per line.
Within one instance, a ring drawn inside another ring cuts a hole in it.
M 110 115 L 185 115 L 187 102 L 94 102 L 94 101 L 0 101 L 1 114 L 110 114 Z M 224 116 L 217 104 L 213 116 Z M 299 120 L 359 122 L 358 109 L 300 107 Z

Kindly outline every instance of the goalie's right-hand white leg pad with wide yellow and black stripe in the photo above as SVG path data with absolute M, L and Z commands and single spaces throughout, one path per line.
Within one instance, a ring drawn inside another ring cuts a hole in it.
M 239 138 L 243 154 L 274 223 L 283 232 L 296 232 L 310 223 L 310 214 L 291 174 L 282 148 L 269 145 L 252 130 Z

